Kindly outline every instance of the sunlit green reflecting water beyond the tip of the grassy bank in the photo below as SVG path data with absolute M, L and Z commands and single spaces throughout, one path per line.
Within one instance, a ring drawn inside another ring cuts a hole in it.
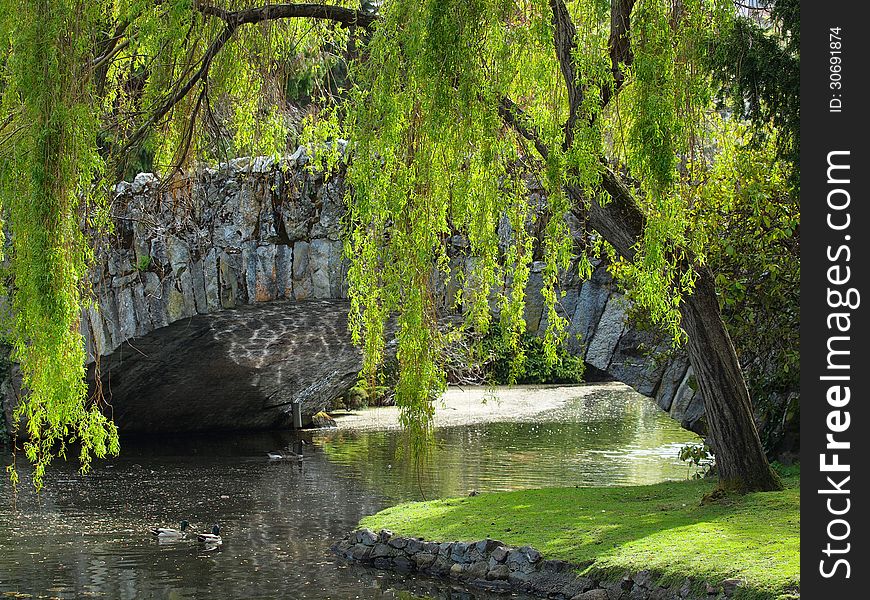
M 696 439 L 652 401 L 628 390 L 578 398 L 543 419 L 438 429 L 437 448 L 420 482 L 426 497 L 683 478 L 685 466 L 675 458 L 676 448 Z M 372 489 L 419 499 L 417 474 L 401 460 L 400 433 L 335 431 L 315 441 Z

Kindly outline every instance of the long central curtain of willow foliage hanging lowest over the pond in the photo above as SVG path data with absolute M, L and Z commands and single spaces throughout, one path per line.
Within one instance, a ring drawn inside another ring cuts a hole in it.
M 498 305 L 507 339 L 520 349 L 532 240 L 517 164 L 523 148 L 504 130 L 498 106 L 524 63 L 538 68 L 524 57 L 529 47 L 543 51 L 540 32 L 519 23 L 528 17 L 535 15 L 504 0 L 390 3 L 369 56 L 353 70 L 358 86 L 342 130 L 352 144 L 346 240 L 351 328 L 364 344 L 365 370 L 373 376 L 383 358 L 386 321 L 397 315 L 396 398 L 417 457 L 428 447 L 433 399 L 445 385 L 436 359 L 450 336 L 437 328 L 431 288 L 433 279 L 450 275 L 444 241 L 453 232 L 467 235 L 475 258 L 457 298 L 468 325 L 486 331 L 491 293 L 510 281 Z M 511 22 L 516 26 L 505 26 Z M 538 75 L 547 94 L 545 73 Z M 556 108 L 557 88 L 549 87 L 554 97 L 546 100 Z M 557 168 L 551 171 L 558 177 Z M 561 188 L 552 183 L 553 190 Z M 545 279 L 552 307 L 570 246 L 560 193 L 550 195 L 550 209 Z M 497 227 L 503 217 L 514 243 L 500 257 Z M 556 340 L 564 319 L 550 313 L 548 335 Z

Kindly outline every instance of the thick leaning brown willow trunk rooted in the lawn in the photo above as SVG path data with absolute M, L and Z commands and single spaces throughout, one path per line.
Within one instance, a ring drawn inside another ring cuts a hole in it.
M 584 207 L 580 210 L 592 228 L 631 260 L 646 219 L 631 189 L 609 168 L 604 169 L 602 185 L 611 198 L 604 206 L 594 199 L 587 201 L 577 188 L 567 191 L 575 206 Z M 689 339 L 689 362 L 704 399 L 720 486 L 740 492 L 782 489 L 758 437 L 746 380 L 719 313 L 713 274 L 708 267 L 696 271 L 695 289 L 683 298 L 680 313 Z

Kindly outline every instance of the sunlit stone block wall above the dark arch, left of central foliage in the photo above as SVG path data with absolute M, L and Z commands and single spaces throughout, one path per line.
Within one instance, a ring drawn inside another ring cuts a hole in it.
M 237 159 L 161 186 L 117 185 L 114 234 L 82 315 L 89 359 L 180 319 L 272 300 L 345 298 L 342 182 L 276 162 Z

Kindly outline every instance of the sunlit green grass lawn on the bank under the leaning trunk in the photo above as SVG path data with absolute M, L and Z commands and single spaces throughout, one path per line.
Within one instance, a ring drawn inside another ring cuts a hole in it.
M 486 537 L 615 576 L 649 569 L 662 583 L 740 578 L 735 598 L 799 589 L 799 475 L 786 489 L 701 504 L 709 480 L 619 488 L 551 488 L 413 502 L 360 523 L 437 541 Z

